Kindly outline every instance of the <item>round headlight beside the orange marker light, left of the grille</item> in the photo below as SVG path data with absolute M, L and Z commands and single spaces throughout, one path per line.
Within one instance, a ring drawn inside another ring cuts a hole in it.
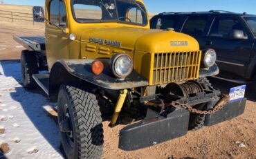
M 118 78 L 125 78 L 131 74 L 134 62 L 127 54 L 119 53 L 111 57 L 111 70 Z

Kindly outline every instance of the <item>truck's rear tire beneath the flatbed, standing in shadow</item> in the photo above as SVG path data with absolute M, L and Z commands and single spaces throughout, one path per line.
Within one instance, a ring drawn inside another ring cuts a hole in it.
M 37 84 L 32 75 L 39 73 L 35 52 L 23 50 L 21 52 L 21 76 L 26 89 L 35 89 Z

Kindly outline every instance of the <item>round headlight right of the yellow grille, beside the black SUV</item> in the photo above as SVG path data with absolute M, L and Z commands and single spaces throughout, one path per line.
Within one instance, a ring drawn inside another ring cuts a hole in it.
M 203 57 L 203 65 L 205 66 L 205 68 L 210 68 L 215 64 L 216 59 L 217 59 L 217 55 L 215 50 L 213 49 L 205 50 L 204 57 Z

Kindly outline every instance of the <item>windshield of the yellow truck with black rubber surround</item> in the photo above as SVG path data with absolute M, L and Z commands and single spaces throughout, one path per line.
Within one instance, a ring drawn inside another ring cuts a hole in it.
M 118 21 L 147 25 L 142 3 L 133 0 L 73 0 L 73 15 L 80 23 Z

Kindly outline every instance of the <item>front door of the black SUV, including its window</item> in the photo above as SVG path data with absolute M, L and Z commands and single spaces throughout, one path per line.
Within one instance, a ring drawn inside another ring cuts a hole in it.
M 214 48 L 217 52 L 217 64 L 221 73 L 232 73 L 244 77 L 250 62 L 253 41 L 251 39 L 234 39 L 233 30 L 246 29 L 237 17 L 218 16 L 214 19 L 210 35 L 205 40 L 205 46 Z

